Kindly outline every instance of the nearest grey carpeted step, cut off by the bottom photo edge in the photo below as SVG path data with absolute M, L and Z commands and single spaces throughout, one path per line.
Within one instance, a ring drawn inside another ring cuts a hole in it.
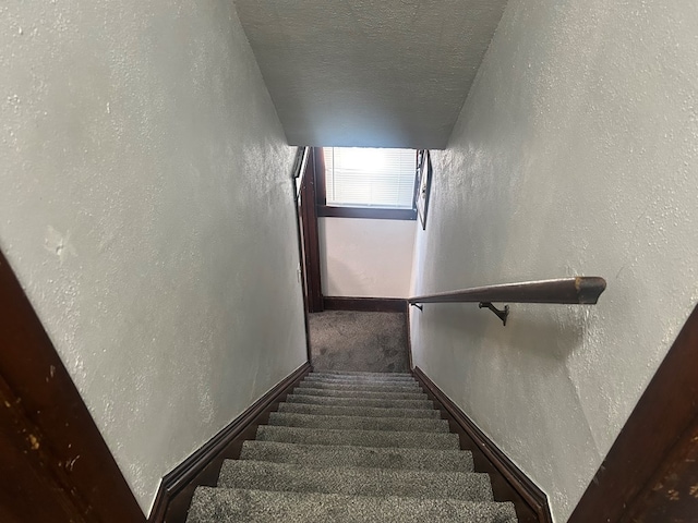
M 188 523 L 516 523 L 512 503 L 198 487 Z

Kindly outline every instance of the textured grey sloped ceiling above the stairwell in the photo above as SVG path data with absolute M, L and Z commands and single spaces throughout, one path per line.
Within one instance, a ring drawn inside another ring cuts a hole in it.
M 290 145 L 445 148 L 506 0 L 236 0 Z

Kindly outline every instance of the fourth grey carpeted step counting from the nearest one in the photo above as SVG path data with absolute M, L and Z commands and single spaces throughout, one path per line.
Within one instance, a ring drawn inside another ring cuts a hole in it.
M 358 447 L 397 447 L 400 449 L 458 450 L 458 436 L 450 433 L 411 433 L 394 430 L 333 430 L 323 428 L 261 425 L 256 439 L 284 443 L 353 445 Z

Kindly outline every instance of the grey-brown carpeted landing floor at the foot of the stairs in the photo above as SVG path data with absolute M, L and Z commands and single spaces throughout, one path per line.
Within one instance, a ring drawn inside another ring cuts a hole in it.
M 311 314 L 310 342 L 317 372 L 409 372 L 405 313 Z

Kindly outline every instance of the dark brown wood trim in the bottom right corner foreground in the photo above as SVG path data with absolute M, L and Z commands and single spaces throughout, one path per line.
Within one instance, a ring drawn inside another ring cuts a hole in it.
M 690 522 L 698 513 L 698 306 L 569 523 Z

